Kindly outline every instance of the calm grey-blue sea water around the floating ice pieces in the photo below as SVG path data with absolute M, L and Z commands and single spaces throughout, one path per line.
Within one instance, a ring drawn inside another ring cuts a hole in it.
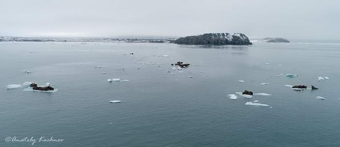
M 177 61 L 191 66 L 167 73 Z M 339 63 L 340 44 L 332 43 L 0 42 L 0 147 L 31 147 L 7 136 L 33 136 L 34 147 L 337 147 Z M 299 76 L 276 77 L 289 73 Z M 23 82 L 51 82 L 59 91 L 5 89 Z M 272 96 L 226 97 L 243 90 Z M 245 105 L 254 100 L 272 108 Z M 38 142 L 40 136 L 64 141 Z

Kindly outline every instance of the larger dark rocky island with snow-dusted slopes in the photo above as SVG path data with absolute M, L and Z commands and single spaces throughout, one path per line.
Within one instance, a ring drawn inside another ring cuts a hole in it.
M 204 33 L 202 35 L 181 37 L 171 41 L 176 44 L 190 45 L 251 45 L 249 38 L 243 33 Z

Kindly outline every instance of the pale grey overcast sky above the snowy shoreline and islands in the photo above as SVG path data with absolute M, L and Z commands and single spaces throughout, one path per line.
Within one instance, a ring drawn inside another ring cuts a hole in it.
M 340 39 L 340 0 L 0 0 L 0 36 Z

